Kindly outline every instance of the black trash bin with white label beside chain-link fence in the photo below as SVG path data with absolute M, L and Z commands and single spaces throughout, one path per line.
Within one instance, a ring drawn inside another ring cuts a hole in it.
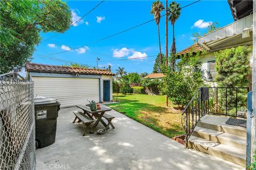
M 55 99 L 35 99 L 36 148 L 55 142 L 60 103 Z

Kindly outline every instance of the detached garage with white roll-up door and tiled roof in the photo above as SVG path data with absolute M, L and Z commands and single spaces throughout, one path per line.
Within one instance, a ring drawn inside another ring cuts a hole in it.
M 26 63 L 34 96 L 58 99 L 61 107 L 112 100 L 113 73 L 108 70 Z

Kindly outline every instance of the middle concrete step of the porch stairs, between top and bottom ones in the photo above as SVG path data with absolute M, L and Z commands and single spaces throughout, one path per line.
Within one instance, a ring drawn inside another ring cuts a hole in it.
M 204 138 L 214 142 L 222 143 L 228 146 L 233 146 L 242 150 L 246 150 L 246 137 L 239 135 L 215 131 L 196 126 L 193 135 L 196 137 Z

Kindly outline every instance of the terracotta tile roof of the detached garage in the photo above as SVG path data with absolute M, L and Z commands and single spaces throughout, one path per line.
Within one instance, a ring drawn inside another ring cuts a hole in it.
M 81 67 L 69 67 L 59 65 L 46 65 L 37 63 L 26 63 L 28 72 L 47 72 L 47 73 L 79 73 L 85 75 L 115 75 L 114 73 L 103 69 L 86 69 Z

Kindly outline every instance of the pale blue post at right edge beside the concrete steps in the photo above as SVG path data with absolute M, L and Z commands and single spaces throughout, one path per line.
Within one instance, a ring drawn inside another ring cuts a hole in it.
M 246 166 L 251 165 L 251 140 L 252 140 L 252 91 L 247 93 L 247 123 L 246 123 Z

